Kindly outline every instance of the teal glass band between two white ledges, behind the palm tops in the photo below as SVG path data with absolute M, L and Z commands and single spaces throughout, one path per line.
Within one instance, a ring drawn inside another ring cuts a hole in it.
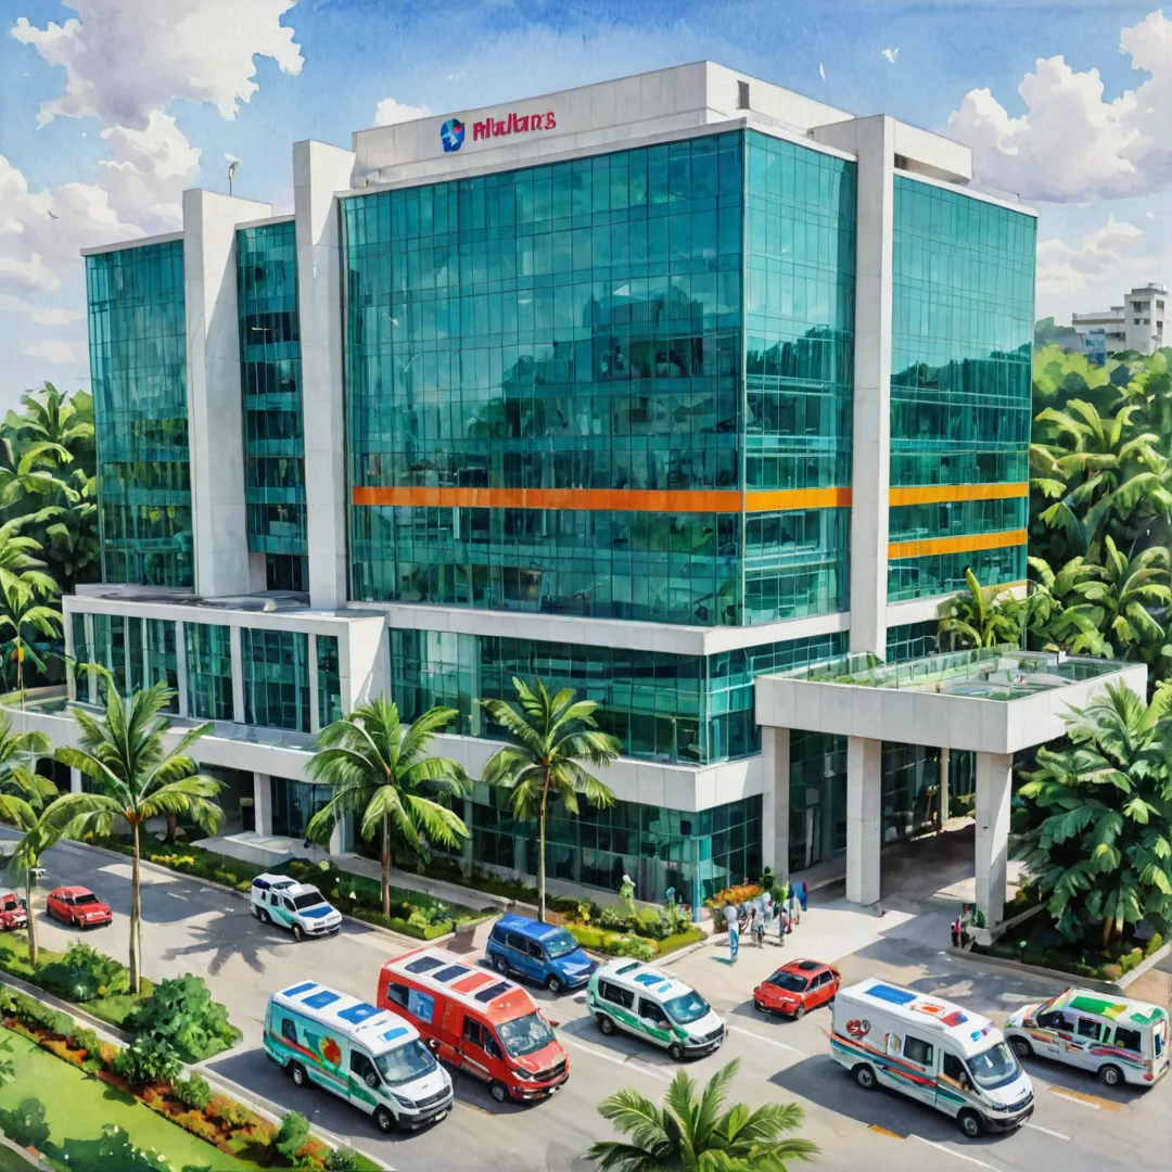
M 786 672 L 845 650 L 845 636 L 768 643 L 718 655 L 673 655 L 463 635 L 390 631 L 391 695 L 404 720 L 435 704 L 459 713 L 464 735 L 492 737 L 477 697 L 513 695 L 512 677 L 540 677 L 573 688 L 602 707 L 598 721 L 643 761 L 710 764 L 761 748 L 754 718 L 754 677 Z

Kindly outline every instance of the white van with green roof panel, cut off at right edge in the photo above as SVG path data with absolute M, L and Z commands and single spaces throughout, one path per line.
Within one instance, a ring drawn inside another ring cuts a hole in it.
M 1023 1006 L 1006 1022 L 1022 1058 L 1054 1058 L 1098 1075 L 1104 1086 L 1153 1086 L 1168 1069 L 1168 1015 L 1146 1001 L 1067 989 Z

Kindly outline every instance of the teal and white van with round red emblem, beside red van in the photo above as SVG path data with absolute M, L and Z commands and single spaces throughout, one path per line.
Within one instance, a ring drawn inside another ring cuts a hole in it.
M 380 1131 L 422 1127 L 451 1110 L 451 1078 L 409 1021 L 316 981 L 268 999 L 265 1051 L 298 1086 L 323 1086 L 374 1116 Z

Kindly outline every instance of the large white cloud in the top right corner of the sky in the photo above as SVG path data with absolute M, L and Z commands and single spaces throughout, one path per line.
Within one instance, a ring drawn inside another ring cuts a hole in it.
M 973 148 L 977 178 L 1057 203 L 1165 190 L 1172 180 L 1172 21 L 1150 13 L 1120 32 L 1119 52 L 1149 77 L 1111 101 L 1097 69 L 1079 73 L 1062 56 L 1038 59 L 1022 79 L 1017 117 L 988 89 L 966 94 L 948 129 Z

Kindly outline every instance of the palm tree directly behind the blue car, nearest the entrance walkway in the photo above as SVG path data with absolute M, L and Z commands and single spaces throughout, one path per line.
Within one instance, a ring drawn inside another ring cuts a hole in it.
M 512 738 L 484 766 L 484 781 L 512 790 L 513 815 L 537 817 L 537 918 L 545 920 L 545 819 L 551 798 L 560 798 L 578 813 L 578 795 L 593 806 L 614 804 L 614 795 L 582 759 L 595 766 L 609 765 L 622 749 L 616 737 L 599 730 L 593 700 L 577 700 L 563 688 L 551 696 L 537 680 L 531 688 L 513 676 L 520 711 L 504 700 L 482 700 L 485 711 Z

